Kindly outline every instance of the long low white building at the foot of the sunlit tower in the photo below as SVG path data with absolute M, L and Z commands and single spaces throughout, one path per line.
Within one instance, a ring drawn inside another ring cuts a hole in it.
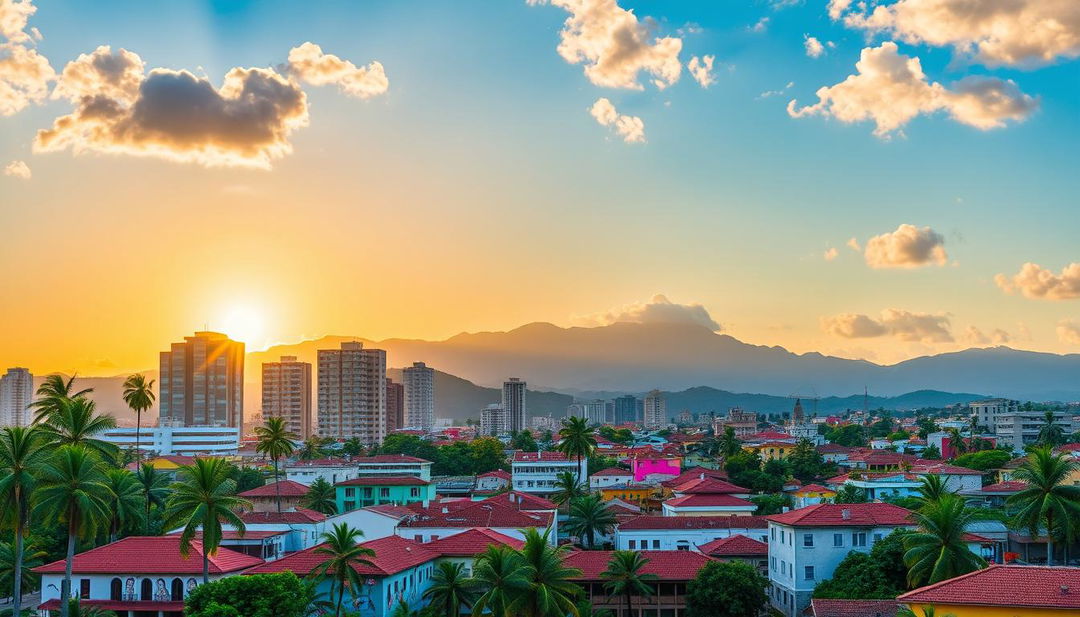
M 208 454 L 216 456 L 235 455 L 240 450 L 239 427 L 185 427 L 160 426 L 109 429 L 102 433 L 102 440 L 120 448 L 135 447 L 138 435 L 139 450 L 161 456 L 194 456 Z

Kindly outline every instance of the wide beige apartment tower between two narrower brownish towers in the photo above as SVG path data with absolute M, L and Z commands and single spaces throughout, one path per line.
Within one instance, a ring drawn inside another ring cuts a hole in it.
M 319 432 L 356 438 L 365 446 L 387 437 L 387 352 L 347 341 L 319 350 Z

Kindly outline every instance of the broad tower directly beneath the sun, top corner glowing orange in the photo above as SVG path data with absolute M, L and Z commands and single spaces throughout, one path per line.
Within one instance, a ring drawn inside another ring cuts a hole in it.
M 197 332 L 161 352 L 161 420 L 173 426 L 240 427 L 244 421 L 244 344 Z

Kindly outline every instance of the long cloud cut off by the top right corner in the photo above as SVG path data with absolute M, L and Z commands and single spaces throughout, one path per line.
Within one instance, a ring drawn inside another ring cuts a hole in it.
M 987 66 L 1040 66 L 1080 56 L 1076 0 L 832 0 L 851 28 L 914 44 L 950 46 Z

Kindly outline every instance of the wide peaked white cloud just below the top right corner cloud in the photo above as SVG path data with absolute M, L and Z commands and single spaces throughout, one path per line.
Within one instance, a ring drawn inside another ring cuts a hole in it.
M 986 131 L 1022 121 L 1038 108 L 1038 100 L 1012 80 L 971 76 L 951 90 L 928 81 L 919 58 L 901 54 L 891 41 L 865 48 L 855 69 L 858 73 L 842 82 L 819 89 L 813 105 L 799 108 L 792 99 L 788 115 L 831 116 L 845 123 L 872 120 L 874 134 L 889 137 L 919 115 L 945 111 L 960 123 Z

